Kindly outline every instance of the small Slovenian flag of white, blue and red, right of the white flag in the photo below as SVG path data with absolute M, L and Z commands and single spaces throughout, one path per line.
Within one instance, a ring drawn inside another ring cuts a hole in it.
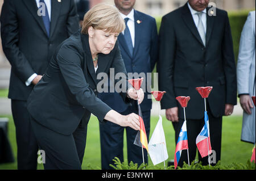
M 187 149 L 188 149 L 187 121 L 184 121 L 180 130 L 180 134 L 177 140 L 177 145 L 176 145 L 175 154 L 174 154 L 175 169 L 177 167 L 177 164 L 179 163 L 181 151 L 187 150 Z

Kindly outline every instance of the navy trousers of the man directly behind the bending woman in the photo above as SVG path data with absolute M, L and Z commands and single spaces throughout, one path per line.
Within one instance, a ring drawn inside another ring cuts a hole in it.
M 121 112 L 122 115 L 129 115 L 129 113 L 137 113 L 137 105 L 129 107 L 125 112 Z M 147 133 L 147 139 L 150 133 L 150 111 L 142 112 L 143 121 Z M 143 163 L 142 149 L 140 146 L 134 145 L 135 137 L 138 131 L 135 131 L 130 127 L 121 127 L 110 121 L 100 124 L 100 140 L 101 140 L 101 169 L 113 169 L 109 165 L 114 165 L 114 157 L 118 157 L 123 162 L 123 131 L 126 129 L 127 139 L 127 157 L 128 162 Z M 144 162 L 148 162 L 147 150 L 143 149 Z

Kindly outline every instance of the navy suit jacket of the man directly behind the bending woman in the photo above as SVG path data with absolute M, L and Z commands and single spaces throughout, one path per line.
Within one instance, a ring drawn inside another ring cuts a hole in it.
M 138 23 L 138 20 L 141 22 Z M 134 23 L 135 44 L 133 55 L 129 53 L 125 37 L 122 33 L 118 36 L 118 42 L 128 75 L 129 73 L 138 73 L 137 75 L 134 74 L 135 77 L 133 78 L 142 77 L 141 73 L 146 75 L 146 77 L 143 76 L 142 88 L 146 93 L 144 94 L 144 100 L 141 103 L 141 109 L 142 111 L 148 111 L 151 110 L 152 100 L 147 98 L 147 95 L 151 94 L 151 84 L 146 83 L 147 81 L 151 81 L 147 80 L 147 73 L 152 72 L 156 59 L 158 58 L 158 33 L 155 19 L 142 12 L 134 10 Z M 123 112 L 127 109 L 127 104 L 123 103 L 116 92 L 103 92 L 99 95 L 99 98 L 115 111 Z M 134 101 L 133 104 L 136 104 L 136 102 Z

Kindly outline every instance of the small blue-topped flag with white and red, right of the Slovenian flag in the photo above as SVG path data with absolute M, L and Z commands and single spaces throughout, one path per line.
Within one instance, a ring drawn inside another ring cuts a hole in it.
M 212 153 L 212 146 L 210 146 L 209 119 L 207 111 L 204 112 L 204 122 L 205 123 L 203 129 L 201 130 L 199 136 L 196 137 L 196 146 L 202 158 Z

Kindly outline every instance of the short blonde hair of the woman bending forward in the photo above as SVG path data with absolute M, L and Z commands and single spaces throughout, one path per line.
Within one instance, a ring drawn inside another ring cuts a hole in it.
M 81 32 L 88 35 L 90 26 L 96 30 L 112 33 L 120 33 L 125 30 L 125 22 L 118 9 L 105 3 L 94 6 L 84 15 Z

